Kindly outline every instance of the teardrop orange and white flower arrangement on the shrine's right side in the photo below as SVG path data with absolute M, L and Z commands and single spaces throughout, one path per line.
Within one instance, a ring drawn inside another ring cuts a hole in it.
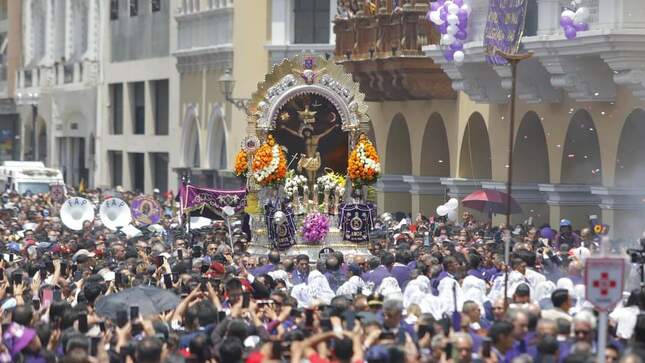
M 381 160 L 376 148 L 362 134 L 347 163 L 347 173 L 354 185 L 369 185 L 378 179 L 381 173 Z

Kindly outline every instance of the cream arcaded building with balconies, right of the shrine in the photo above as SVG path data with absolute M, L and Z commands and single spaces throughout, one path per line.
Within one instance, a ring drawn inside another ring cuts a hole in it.
M 485 61 L 488 1 L 472 0 L 462 64 L 447 61 L 423 18 L 425 1 L 380 1 L 375 15 L 338 20 L 336 56 L 361 83 L 386 175 L 380 207 L 431 213 L 446 197 L 504 190 L 510 68 Z M 597 215 L 617 236 L 640 235 L 645 196 L 645 8 L 583 1 L 590 30 L 565 38 L 569 1 L 529 2 L 513 145 L 515 221 L 582 227 Z

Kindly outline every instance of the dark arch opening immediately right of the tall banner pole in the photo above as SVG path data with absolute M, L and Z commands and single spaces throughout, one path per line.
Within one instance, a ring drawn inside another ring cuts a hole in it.
M 540 116 L 527 112 L 515 136 L 513 146 L 513 181 L 549 182 L 549 153 Z

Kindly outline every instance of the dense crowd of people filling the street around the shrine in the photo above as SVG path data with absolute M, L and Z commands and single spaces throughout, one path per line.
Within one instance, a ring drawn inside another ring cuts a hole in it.
M 127 238 L 98 219 L 69 230 L 47 195 L 2 195 L 0 362 L 583 363 L 599 350 L 606 362 L 645 360 L 638 288 L 597 345 L 583 263 L 598 240 L 567 220 L 420 216 L 390 240 L 375 234 L 369 256 L 313 261 L 251 255 L 240 226 L 187 233 L 172 198 L 159 199 L 163 230 Z

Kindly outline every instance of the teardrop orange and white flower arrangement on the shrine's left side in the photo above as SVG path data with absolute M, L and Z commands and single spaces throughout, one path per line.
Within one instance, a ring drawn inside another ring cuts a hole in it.
M 280 183 L 287 175 L 287 159 L 273 136 L 260 146 L 253 158 L 253 176 L 263 186 Z

